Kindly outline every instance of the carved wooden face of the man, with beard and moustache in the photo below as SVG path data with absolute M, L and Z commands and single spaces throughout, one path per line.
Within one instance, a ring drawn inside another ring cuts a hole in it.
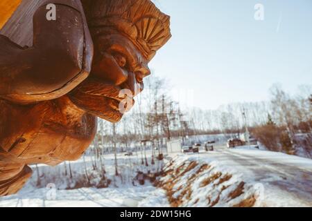
M 125 99 L 120 91 L 128 89 L 127 99 L 133 99 L 143 90 L 147 75 L 150 75 L 148 59 L 132 41 L 118 33 L 98 35 L 94 37 L 91 73 L 69 93 L 69 98 L 87 113 L 118 122 L 123 116 L 120 102 Z

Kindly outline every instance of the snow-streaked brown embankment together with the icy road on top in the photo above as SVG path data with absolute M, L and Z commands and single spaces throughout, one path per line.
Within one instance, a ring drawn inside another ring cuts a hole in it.
M 171 206 L 312 206 L 312 160 L 252 148 L 179 154 L 158 186 Z

